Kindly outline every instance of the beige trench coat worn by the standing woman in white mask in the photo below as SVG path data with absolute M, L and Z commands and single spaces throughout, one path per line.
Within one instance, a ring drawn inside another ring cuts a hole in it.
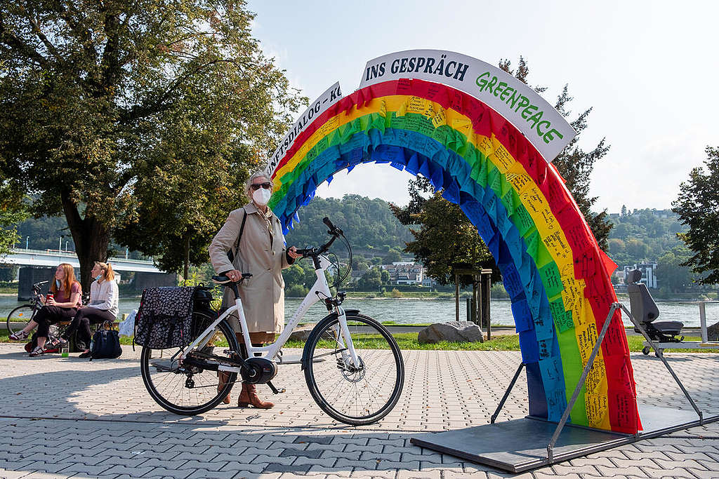
M 227 251 L 232 250 L 237 241 L 243 210 L 247 211 L 247 221 L 239 241 L 239 253 L 230 263 Z M 252 274 L 252 278 L 239 287 L 249 332 L 281 332 L 285 325 L 285 280 L 282 270 L 290 266 L 293 260 L 288 259 L 285 253 L 285 236 L 280 220 L 273 214 L 272 221 L 274 233 L 270 245 L 265 219 L 252 202 L 247 203 L 229 213 L 209 247 L 210 261 L 217 274 L 231 269 Z M 225 288 L 222 305 L 229 307 L 232 304 L 234 293 Z M 235 331 L 240 331 L 236 317 L 232 317 L 229 322 Z

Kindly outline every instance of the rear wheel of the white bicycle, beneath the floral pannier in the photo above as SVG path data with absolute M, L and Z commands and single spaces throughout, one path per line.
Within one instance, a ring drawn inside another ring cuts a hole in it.
M 209 326 L 213 320 L 201 313 L 195 313 L 196 322 Z M 198 317 L 199 315 L 199 317 Z M 192 343 L 203 329 L 198 329 Z M 219 388 L 220 378 L 217 366 L 223 358 L 232 358 L 239 352 L 234 331 L 222 321 L 215 327 L 210 342 L 201 350 L 201 365 L 188 366 L 180 358 L 186 358 L 191 351 L 183 348 L 150 349 L 142 348 L 140 371 L 147 391 L 157 404 L 175 414 L 193 416 L 217 406 L 232 389 L 237 373 L 225 372 L 224 387 Z

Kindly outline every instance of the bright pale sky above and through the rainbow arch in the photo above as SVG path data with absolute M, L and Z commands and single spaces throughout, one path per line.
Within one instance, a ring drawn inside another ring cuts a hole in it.
M 582 146 L 606 137 L 595 165 L 595 208 L 670 208 L 679 182 L 719 146 L 715 1 L 268 1 L 250 0 L 253 32 L 312 100 L 339 80 L 359 85 L 365 63 L 421 48 L 497 65 L 519 55 L 531 85 L 565 83 L 574 113 L 594 108 Z M 573 118 L 573 117 L 572 117 Z M 339 173 L 317 194 L 357 193 L 406 204 L 411 177 L 388 165 Z M 326 184 L 325 184 L 326 185 Z

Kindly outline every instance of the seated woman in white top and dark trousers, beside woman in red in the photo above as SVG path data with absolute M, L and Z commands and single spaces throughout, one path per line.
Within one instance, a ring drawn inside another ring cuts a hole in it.
M 95 281 L 90 285 L 90 302 L 78 309 L 73 322 L 67 327 L 63 336 L 52 342 L 52 346 L 65 345 L 75 331 L 78 332 L 78 349 L 84 352 L 81 358 L 90 355 L 91 324 L 105 321 L 114 322 L 117 317 L 117 283 L 115 274 L 109 263 L 96 261 L 91 271 Z

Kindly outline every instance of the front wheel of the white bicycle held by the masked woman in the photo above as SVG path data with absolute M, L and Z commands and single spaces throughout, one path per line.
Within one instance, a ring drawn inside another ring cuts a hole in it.
M 361 426 L 385 417 L 404 385 L 402 353 L 390 332 L 365 315 L 347 315 L 357 366 L 336 315 L 321 320 L 305 345 L 305 380 L 316 403 L 339 422 Z

